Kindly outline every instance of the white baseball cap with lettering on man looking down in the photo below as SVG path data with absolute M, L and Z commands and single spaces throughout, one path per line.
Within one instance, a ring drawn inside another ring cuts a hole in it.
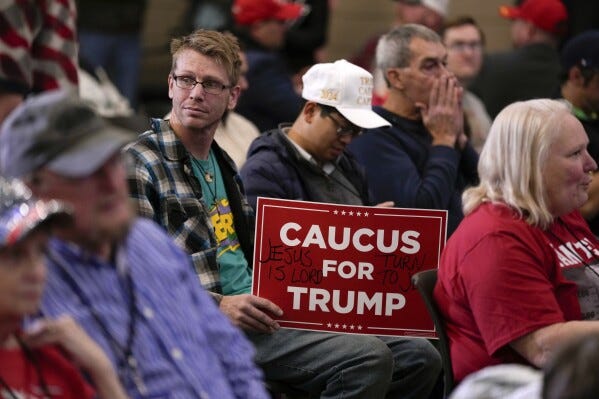
M 357 65 L 338 60 L 312 66 L 302 76 L 302 97 L 335 107 L 351 123 L 364 129 L 391 126 L 372 110 L 372 74 Z

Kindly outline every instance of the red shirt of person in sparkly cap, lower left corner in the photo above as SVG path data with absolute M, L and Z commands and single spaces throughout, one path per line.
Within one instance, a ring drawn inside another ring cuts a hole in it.
M 35 351 L 41 374 L 48 386 L 52 399 L 94 398 L 94 390 L 85 382 L 77 368 L 53 346 L 44 346 Z M 0 377 L 19 398 L 45 399 L 35 371 L 21 349 L 0 349 Z M 0 397 L 10 398 L 0 386 Z

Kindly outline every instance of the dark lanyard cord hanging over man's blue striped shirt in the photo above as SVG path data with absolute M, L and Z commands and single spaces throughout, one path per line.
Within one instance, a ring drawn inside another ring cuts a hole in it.
M 104 338 L 112 347 L 115 357 L 118 359 L 118 369 L 121 372 L 128 374 L 137 391 L 140 394 L 145 395 L 147 393 L 147 388 L 139 370 L 137 360 L 135 359 L 135 356 L 133 356 L 133 342 L 135 340 L 137 319 L 140 317 L 140 312 L 137 307 L 137 294 L 135 292 L 135 285 L 133 284 L 133 277 L 131 276 L 129 267 L 122 268 L 129 302 L 128 332 L 125 344 L 122 345 L 110 332 L 108 323 L 105 322 L 103 317 L 101 317 L 97 310 L 92 306 L 92 301 L 85 294 L 81 286 L 77 284 L 77 280 L 68 271 L 68 268 L 64 265 L 62 259 L 58 259 L 58 257 L 51 253 L 51 251 L 49 251 L 46 256 L 58 265 L 60 274 L 67 285 L 69 285 L 77 297 L 79 297 L 83 306 L 87 308 L 98 327 L 100 327 L 100 332 L 104 335 Z

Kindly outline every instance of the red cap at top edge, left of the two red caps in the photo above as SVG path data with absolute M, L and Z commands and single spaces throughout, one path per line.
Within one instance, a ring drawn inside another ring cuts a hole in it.
M 251 25 L 269 19 L 297 19 L 303 10 L 302 4 L 284 0 L 235 0 L 233 3 L 233 17 L 238 25 Z

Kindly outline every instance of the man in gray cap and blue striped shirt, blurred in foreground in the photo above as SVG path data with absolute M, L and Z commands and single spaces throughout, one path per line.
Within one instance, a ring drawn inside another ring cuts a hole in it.
M 187 255 L 134 218 L 120 155 L 130 137 L 64 92 L 28 99 L 3 125 L 0 172 L 74 213 L 49 246 L 43 312 L 72 315 L 131 397 L 268 398 L 250 343 L 201 289 Z

